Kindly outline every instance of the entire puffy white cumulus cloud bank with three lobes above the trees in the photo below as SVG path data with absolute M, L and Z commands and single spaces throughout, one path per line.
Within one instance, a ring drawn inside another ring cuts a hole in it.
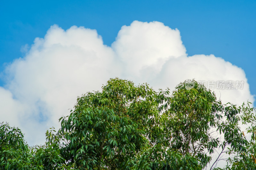
M 156 21 L 123 26 L 111 47 L 96 30 L 51 26 L 4 75 L 0 120 L 19 126 L 29 144 L 43 144 L 45 130 L 60 127 L 58 119 L 68 115 L 78 95 L 100 90 L 114 77 L 171 90 L 192 78 L 243 80 L 242 90 L 215 90 L 216 95 L 235 104 L 253 101 L 241 68 L 214 55 L 188 56 L 180 31 Z

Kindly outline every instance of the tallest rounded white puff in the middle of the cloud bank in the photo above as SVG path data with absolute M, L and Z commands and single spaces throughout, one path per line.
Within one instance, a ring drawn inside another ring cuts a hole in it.
M 122 26 L 112 48 L 124 65 L 123 75 L 140 81 L 156 75 L 168 59 L 186 56 L 180 31 L 156 21 Z

